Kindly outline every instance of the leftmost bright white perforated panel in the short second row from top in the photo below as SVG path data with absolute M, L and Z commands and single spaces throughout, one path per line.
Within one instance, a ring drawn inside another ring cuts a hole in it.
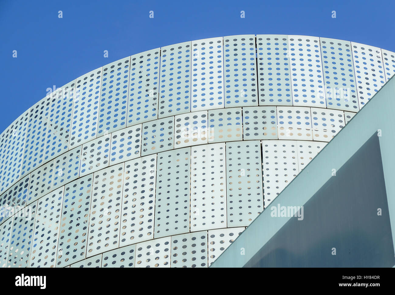
M 79 176 L 84 176 L 109 166 L 111 136 L 105 135 L 82 146 Z

